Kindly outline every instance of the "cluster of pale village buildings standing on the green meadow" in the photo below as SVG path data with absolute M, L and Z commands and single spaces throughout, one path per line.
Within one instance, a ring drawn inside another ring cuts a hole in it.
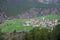
M 59 24 L 57 19 L 49 20 L 49 19 L 42 18 L 41 20 L 31 19 L 31 20 L 25 21 L 25 23 L 23 25 L 24 26 L 33 26 L 33 27 L 39 27 L 39 26 L 52 27 L 52 26 L 55 26 L 57 24 Z

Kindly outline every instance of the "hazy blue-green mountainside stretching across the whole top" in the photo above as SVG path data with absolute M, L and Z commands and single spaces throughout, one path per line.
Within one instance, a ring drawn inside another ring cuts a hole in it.
M 41 1 L 43 3 L 41 3 Z M 46 2 L 52 2 L 52 4 L 46 4 Z M 57 0 L 60 2 L 59 0 Z M 31 8 L 60 8 L 60 5 L 54 4 L 56 0 L 1 0 L 0 1 L 0 13 L 7 16 L 17 16 L 22 12 L 26 12 Z

